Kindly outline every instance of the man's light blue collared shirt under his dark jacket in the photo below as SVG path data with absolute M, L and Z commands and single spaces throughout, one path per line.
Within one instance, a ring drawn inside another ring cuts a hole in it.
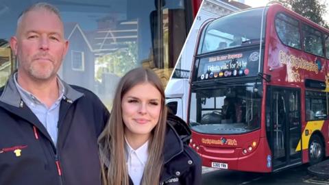
M 50 108 L 47 108 L 45 103 L 42 103 L 38 98 L 36 98 L 32 93 L 29 93 L 27 90 L 23 89 L 19 83 L 17 82 L 17 73 L 14 74 L 14 82 L 17 90 L 19 90 L 19 94 L 21 95 L 21 99 L 24 103 L 32 110 L 32 112 L 36 115 L 42 125 L 45 126 L 51 140 L 53 140 L 53 144 L 57 145 L 57 137 L 58 137 L 58 118 L 60 115 L 60 101 L 64 95 L 64 86 L 60 79 L 58 78 L 58 94 L 60 95 L 58 99 L 51 105 Z

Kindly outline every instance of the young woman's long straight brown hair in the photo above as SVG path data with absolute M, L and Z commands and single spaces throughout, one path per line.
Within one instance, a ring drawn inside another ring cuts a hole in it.
M 124 128 L 122 119 L 121 101 L 123 95 L 137 84 L 150 83 L 156 87 L 161 94 L 160 118 L 156 127 L 152 130 L 149 138 L 149 156 L 144 169 L 142 185 L 159 184 L 162 170 L 162 151 L 164 145 L 164 134 L 166 130 L 167 108 L 164 105 L 164 88 L 159 77 L 151 69 L 133 69 L 122 77 L 117 86 L 114 96 L 110 120 L 99 136 L 101 143 L 101 178 L 103 185 L 128 185 L 129 178 L 125 162 L 124 150 Z M 147 89 L 145 89 L 147 90 Z M 109 160 L 107 160 L 107 158 Z M 106 161 L 109 165 L 106 165 Z

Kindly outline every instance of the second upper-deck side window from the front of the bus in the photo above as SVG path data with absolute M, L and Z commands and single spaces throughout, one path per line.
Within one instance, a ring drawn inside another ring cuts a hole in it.
M 324 45 L 322 33 L 308 25 L 303 25 L 303 45 L 304 50 L 317 56 L 324 56 Z

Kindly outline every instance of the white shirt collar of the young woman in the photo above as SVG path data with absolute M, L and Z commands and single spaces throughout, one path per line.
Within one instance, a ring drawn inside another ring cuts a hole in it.
M 131 153 L 136 153 L 136 156 L 138 159 L 145 165 L 147 162 L 147 157 L 149 156 L 149 140 L 147 140 L 141 147 L 138 149 L 133 149 L 128 141 L 127 138 L 125 138 L 125 160 L 128 160 Z

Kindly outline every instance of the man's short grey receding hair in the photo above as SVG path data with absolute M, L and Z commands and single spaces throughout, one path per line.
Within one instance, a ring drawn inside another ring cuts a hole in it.
M 31 12 L 32 10 L 46 10 L 48 12 L 56 14 L 56 16 L 58 16 L 58 18 L 60 18 L 60 21 L 62 22 L 62 18 L 60 17 L 60 10 L 58 10 L 58 8 L 56 8 L 54 5 L 51 5 L 49 3 L 35 3 L 29 6 L 19 15 L 19 19 L 17 20 L 17 27 L 19 27 L 19 24 L 21 24 L 23 16 L 25 16 L 27 12 Z

